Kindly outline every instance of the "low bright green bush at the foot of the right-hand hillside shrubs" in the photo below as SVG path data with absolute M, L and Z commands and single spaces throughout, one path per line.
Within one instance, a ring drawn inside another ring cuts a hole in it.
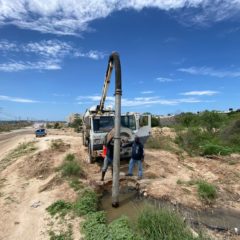
M 202 155 L 222 155 L 226 156 L 234 152 L 232 148 L 207 143 L 202 146 Z

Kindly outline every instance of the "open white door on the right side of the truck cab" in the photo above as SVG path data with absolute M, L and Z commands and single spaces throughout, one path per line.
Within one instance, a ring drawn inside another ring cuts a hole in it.
M 151 134 L 151 115 L 138 115 L 138 130 L 136 135 L 140 138 L 141 143 L 145 144 Z

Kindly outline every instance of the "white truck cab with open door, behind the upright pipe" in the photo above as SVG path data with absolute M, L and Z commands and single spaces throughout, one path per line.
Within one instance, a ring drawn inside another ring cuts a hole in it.
M 144 121 L 143 118 L 145 118 Z M 144 124 L 143 124 L 144 123 Z M 102 156 L 106 135 L 114 129 L 114 112 L 106 111 L 104 114 L 87 111 L 83 117 L 83 144 L 88 147 L 89 162 Z M 137 135 L 144 144 L 151 133 L 151 116 L 138 113 L 126 113 L 121 115 L 121 141 L 123 143 L 133 141 Z M 121 148 L 121 158 L 131 156 L 131 148 Z

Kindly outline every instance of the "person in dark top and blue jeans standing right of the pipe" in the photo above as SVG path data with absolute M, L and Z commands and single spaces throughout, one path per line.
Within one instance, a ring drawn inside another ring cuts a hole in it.
M 143 166 L 142 162 L 144 160 L 144 147 L 140 142 L 138 136 L 135 137 L 134 141 L 124 145 L 123 147 L 132 147 L 132 157 L 129 162 L 128 174 L 127 176 L 133 176 L 133 168 L 135 164 L 138 164 L 138 180 L 143 177 Z

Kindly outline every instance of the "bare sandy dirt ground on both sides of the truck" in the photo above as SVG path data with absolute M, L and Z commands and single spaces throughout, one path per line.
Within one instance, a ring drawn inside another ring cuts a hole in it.
M 153 131 L 174 137 L 174 133 L 164 128 Z M 65 149 L 51 150 L 50 143 L 62 139 Z M 87 173 L 87 182 L 101 185 L 100 164 L 88 164 L 87 151 L 82 146 L 81 135 L 70 130 L 50 130 L 43 138 L 27 134 L 13 138 L 7 148 L 0 150 L 0 161 L 19 142 L 34 141 L 37 150 L 12 162 L 0 172 L 0 240 L 45 240 L 49 239 L 51 217 L 45 210 L 59 199 L 74 201 L 76 193 L 67 182 L 57 178 L 58 167 L 66 153 L 75 153 Z M 228 208 L 240 210 L 240 156 L 216 157 L 213 159 L 187 155 L 179 156 L 163 150 L 145 150 L 144 179 L 138 182 L 146 196 L 169 200 L 195 209 Z M 106 180 L 111 179 L 108 171 Z M 127 162 L 121 164 L 121 176 L 127 172 Z M 218 197 L 209 206 L 197 195 L 195 185 L 186 184 L 190 180 L 206 180 L 217 186 Z M 73 239 L 80 239 L 79 221 L 73 224 Z M 240 227 L 240 226 L 239 226 Z M 211 233 L 212 234 L 212 233 Z M 216 234 L 215 234 L 216 237 Z M 222 236 L 216 239 L 240 239 L 238 236 Z

